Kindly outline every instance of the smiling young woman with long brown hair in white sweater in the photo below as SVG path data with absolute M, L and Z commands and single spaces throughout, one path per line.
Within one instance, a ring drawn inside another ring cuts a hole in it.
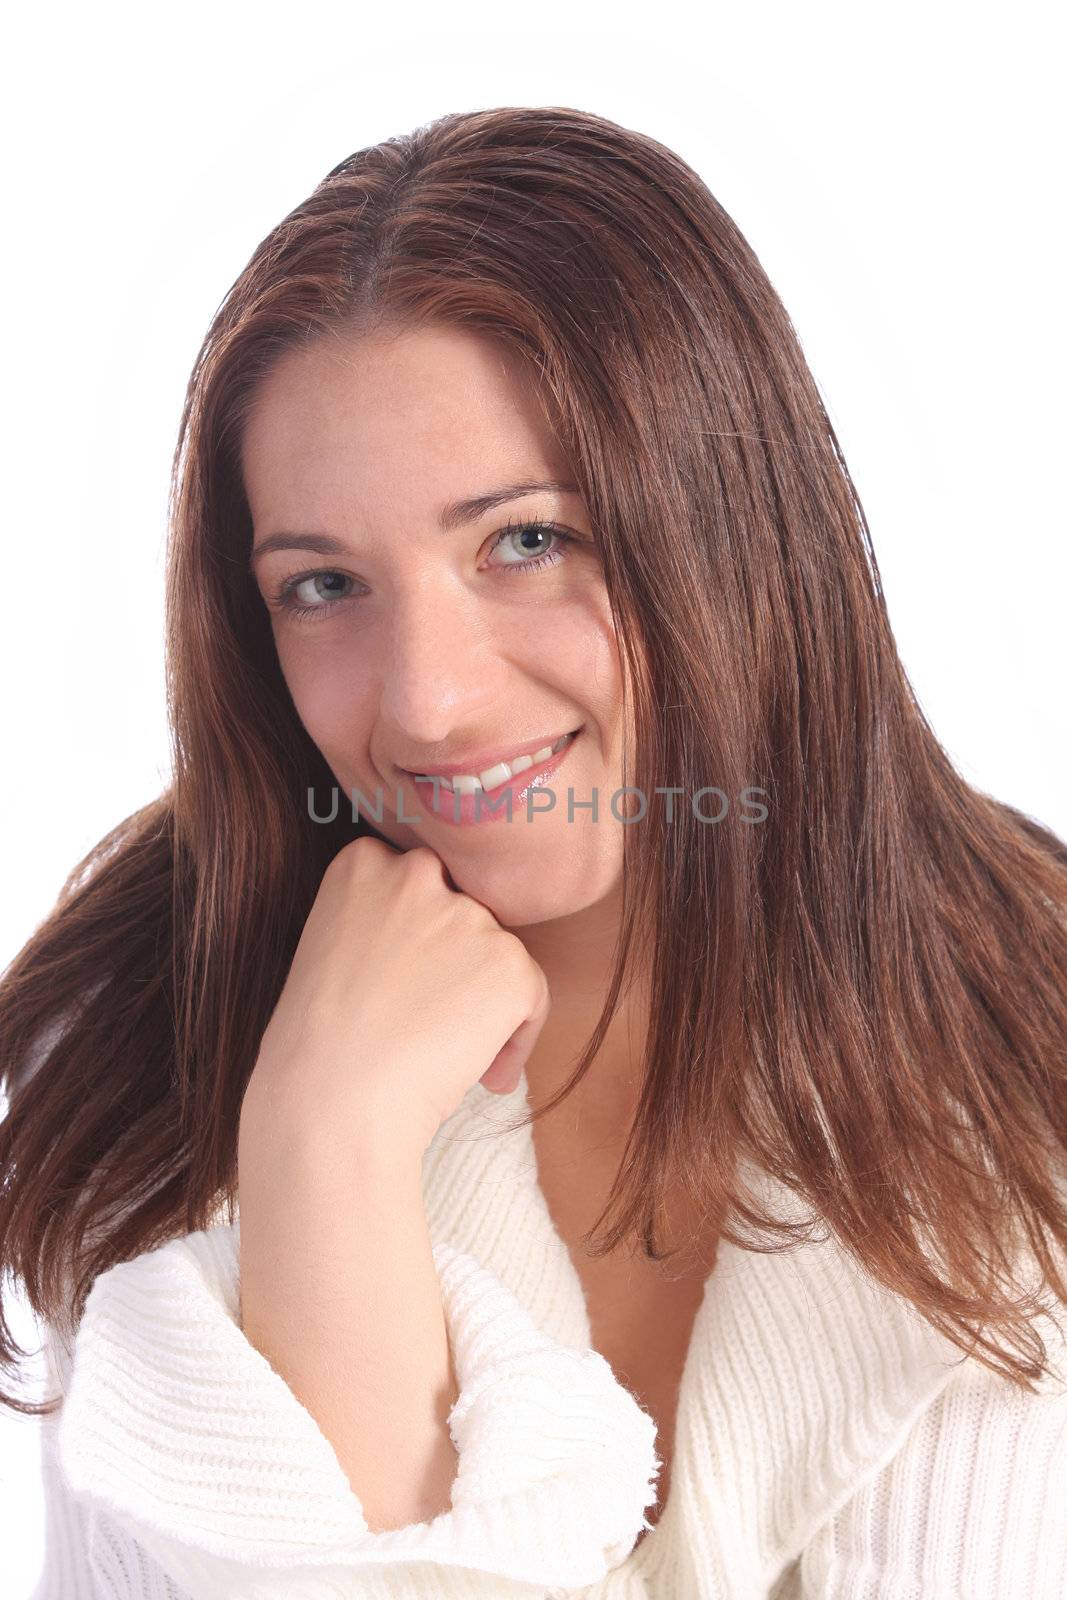
M 1067 850 L 701 179 L 339 163 L 197 360 L 166 643 L 174 781 L 0 986 L 38 1600 L 1062 1594 Z

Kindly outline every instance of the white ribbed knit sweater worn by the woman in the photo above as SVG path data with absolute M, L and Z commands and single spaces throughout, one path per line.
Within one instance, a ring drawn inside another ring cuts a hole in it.
M 240 1330 L 240 1222 L 219 1219 L 104 1272 L 74 1350 L 50 1344 L 64 1405 L 34 1600 L 1064 1600 L 1061 1330 L 1041 1320 L 1057 1371 L 1025 1394 L 822 1237 L 720 1246 L 669 1501 L 635 1549 L 654 1424 L 590 1349 L 530 1130 L 501 1126 L 525 1106 L 525 1077 L 506 1098 L 475 1083 L 424 1158 L 459 1384 L 451 1509 L 368 1531 Z

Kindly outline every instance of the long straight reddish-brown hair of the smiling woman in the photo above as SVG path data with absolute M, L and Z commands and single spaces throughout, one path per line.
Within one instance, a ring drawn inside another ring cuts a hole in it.
M 589 1070 L 640 941 L 646 1074 L 592 1253 L 637 1235 L 659 1258 L 678 1176 L 725 1238 L 787 1248 L 795 1224 L 737 1181 L 750 1162 L 1029 1389 L 1046 1347 L 1022 1251 L 1067 1299 L 1067 850 L 965 782 L 928 726 L 752 248 L 675 154 L 568 107 L 442 117 L 347 157 L 208 330 L 171 491 L 174 779 L 80 862 L 0 982 L 3 1270 L 69 1331 L 106 1267 L 219 1203 L 234 1216 L 261 1035 L 328 861 L 366 830 L 306 808 L 334 778 L 250 576 L 240 437 L 286 349 L 376 317 L 438 318 L 530 360 L 633 685 L 625 781 L 765 792 L 760 826 L 675 803 L 624 829 L 605 1013 L 533 1114 Z M 0 1362 L 16 1354 L 0 1322 Z

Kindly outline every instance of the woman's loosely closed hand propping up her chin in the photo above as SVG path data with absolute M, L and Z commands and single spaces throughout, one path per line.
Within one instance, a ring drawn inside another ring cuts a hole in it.
M 323 874 L 245 1102 L 424 1150 L 472 1083 L 517 1086 L 547 1014 L 541 966 L 435 851 L 362 837 Z

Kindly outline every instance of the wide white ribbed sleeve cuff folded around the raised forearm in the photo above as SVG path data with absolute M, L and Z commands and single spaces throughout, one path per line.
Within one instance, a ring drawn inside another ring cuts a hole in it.
M 603 1357 L 542 1333 L 450 1243 L 434 1262 L 459 1389 L 451 1509 L 371 1533 L 328 1438 L 240 1328 L 238 1229 L 93 1285 L 56 1453 L 101 1526 L 192 1600 L 541 1600 L 625 1558 L 656 1498 L 653 1419 Z

